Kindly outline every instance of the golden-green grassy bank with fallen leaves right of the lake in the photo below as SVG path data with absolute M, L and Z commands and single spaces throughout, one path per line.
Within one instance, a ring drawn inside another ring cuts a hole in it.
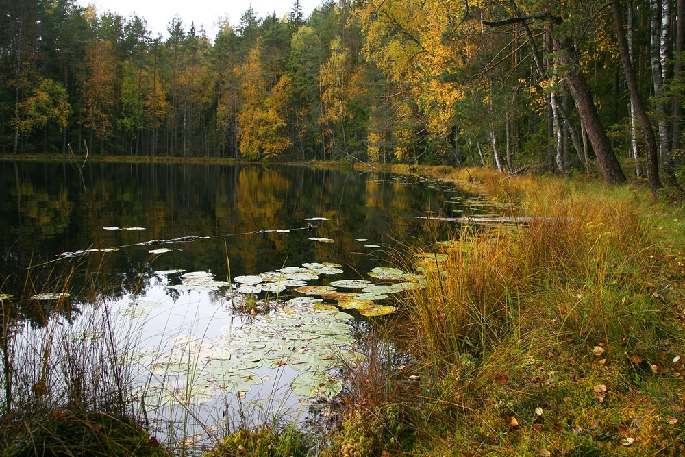
M 630 186 L 479 173 L 536 218 L 418 253 L 428 280 L 399 305 L 397 338 L 414 359 L 403 382 L 419 388 L 349 402 L 333 449 L 685 453 L 682 208 Z

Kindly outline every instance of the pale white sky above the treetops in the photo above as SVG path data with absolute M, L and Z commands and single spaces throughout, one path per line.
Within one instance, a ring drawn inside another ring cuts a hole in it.
M 214 40 L 219 29 L 219 19 L 228 16 L 229 23 L 237 26 L 242 12 L 247 10 L 250 3 L 257 17 L 275 12 L 280 18 L 288 14 L 295 0 L 77 0 L 77 3 L 84 7 L 88 4 L 95 5 L 97 14 L 111 11 L 128 18 L 136 13 L 145 18 L 153 37 L 162 35 L 166 38 L 166 24 L 178 13 L 186 31 L 190 28 L 190 23 L 195 23 L 196 29 L 205 29 L 210 40 Z M 321 0 L 300 0 L 303 16 L 308 18 L 321 3 Z

